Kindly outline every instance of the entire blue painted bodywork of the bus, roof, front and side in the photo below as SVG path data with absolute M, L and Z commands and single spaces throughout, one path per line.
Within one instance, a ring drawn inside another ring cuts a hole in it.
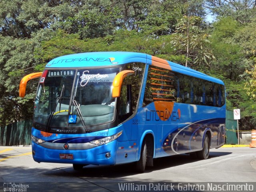
M 80 68 L 118 66 L 129 62 L 146 63 L 145 74 L 154 58 L 147 54 L 132 52 L 90 52 L 61 56 L 51 60 L 46 68 Z M 172 71 L 202 78 L 224 85 L 212 78 L 166 61 Z M 225 141 L 226 105 L 222 107 L 182 104 L 175 102 L 152 102 L 142 108 L 147 76 L 144 76 L 138 109 L 130 119 L 117 127 L 88 134 L 47 134 L 32 129 L 32 135 L 49 143 L 86 144 L 120 131 L 118 139 L 86 150 L 49 149 L 32 142 L 33 158 L 37 162 L 71 164 L 122 164 L 138 161 L 144 136 L 154 138 L 154 158 L 198 151 L 203 148 L 206 132 L 210 134 L 210 147 L 218 148 Z M 58 141 L 57 141 L 58 140 Z M 105 154 L 111 153 L 110 158 Z M 60 159 L 60 154 L 73 154 L 73 160 Z

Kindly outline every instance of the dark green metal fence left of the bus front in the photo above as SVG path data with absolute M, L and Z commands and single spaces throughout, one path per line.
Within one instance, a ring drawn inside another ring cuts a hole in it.
M 0 146 L 31 145 L 32 120 L 0 127 Z

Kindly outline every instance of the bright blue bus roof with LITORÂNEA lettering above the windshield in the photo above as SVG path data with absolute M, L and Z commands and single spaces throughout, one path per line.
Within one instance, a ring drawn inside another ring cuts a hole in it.
M 152 64 L 152 60 L 154 60 L 155 58 L 156 57 L 154 56 L 138 52 L 86 52 L 54 58 L 53 60 L 48 62 L 48 64 L 46 64 L 46 68 L 115 66 L 129 62 L 143 62 Z M 167 65 L 170 65 L 173 71 L 187 74 L 190 76 L 195 76 L 198 78 L 203 78 L 219 84 L 224 84 L 219 79 L 210 77 L 191 68 L 167 60 L 162 61 L 164 61 Z

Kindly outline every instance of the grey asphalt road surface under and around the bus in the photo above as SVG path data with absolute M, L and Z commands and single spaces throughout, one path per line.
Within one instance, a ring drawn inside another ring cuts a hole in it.
M 134 164 L 90 165 L 79 172 L 73 170 L 72 164 L 34 162 L 31 147 L 0 146 L 0 182 L 5 185 L 29 182 L 30 188 L 26 190 L 28 192 L 42 188 L 43 191 L 61 189 L 62 192 L 65 189 L 80 191 L 81 188 L 90 192 L 120 191 L 118 182 L 255 183 L 256 148 L 212 149 L 207 160 L 193 160 L 186 154 L 158 158 L 154 160 L 154 167 L 148 167 L 143 174 L 134 172 L 133 166 Z M 0 185 L 0 191 L 2 189 Z

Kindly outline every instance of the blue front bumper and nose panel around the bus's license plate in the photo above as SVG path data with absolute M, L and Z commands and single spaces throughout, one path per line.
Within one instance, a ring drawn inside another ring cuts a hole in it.
M 116 146 L 117 141 L 114 140 L 102 146 L 95 146 L 94 148 L 86 150 L 70 150 L 65 149 L 65 144 L 86 144 L 90 141 L 100 139 L 106 136 L 116 134 L 118 128 L 112 128 L 99 132 L 88 134 L 49 134 L 32 128 L 32 135 L 51 144 L 60 144 L 61 149 L 53 149 L 43 147 L 42 144 L 32 142 L 32 150 L 34 152 L 33 158 L 36 162 L 56 162 L 56 163 L 72 163 L 72 164 L 116 164 Z M 54 146 L 54 145 L 51 145 Z M 106 153 L 113 154 L 110 158 L 106 158 Z M 74 159 L 60 159 L 60 154 L 72 154 Z

